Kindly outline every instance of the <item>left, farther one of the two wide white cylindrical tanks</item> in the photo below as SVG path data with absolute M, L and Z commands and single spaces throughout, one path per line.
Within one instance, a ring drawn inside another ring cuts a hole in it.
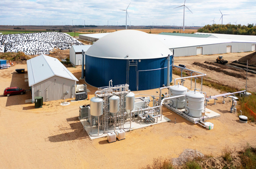
M 185 95 L 186 92 L 188 91 L 188 88 L 178 84 L 178 85 L 171 86 L 169 90 L 170 90 L 170 97 L 172 97 L 172 96 Z M 170 99 L 170 106 L 175 108 L 184 108 L 185 96 L 180 97 L 180 99 L 178 100 L 178 105 L 177 105 L 177 98 Z

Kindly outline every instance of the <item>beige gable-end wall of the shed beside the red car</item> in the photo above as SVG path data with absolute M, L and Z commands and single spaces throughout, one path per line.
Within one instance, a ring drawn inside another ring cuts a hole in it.
M 64 98 L 66 91 L 68 91 L 68 95 L 65 95 L 65 98 L 72 98 L 75 96 L 75 87 L 73 87 L 75 83 L 76 81 L 66 78 L 51 77 L 33 86 L 33 98 L 42 96 L 44 102 L 60 100 Z

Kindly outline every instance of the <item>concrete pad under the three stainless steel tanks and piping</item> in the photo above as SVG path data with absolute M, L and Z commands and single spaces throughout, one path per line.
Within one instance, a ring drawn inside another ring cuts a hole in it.
M 80 119 L 80 117 L 78 117 L 78 119 L 80 120 L 80 122 L 82 123 L 82 125 L 84 126 L 85 131 L 88 133 L 89 137 L 91 139 L 98 139 L 98 138 L 102 138 L 102 137 L 107 137 L 107 133 L 103 133 L 102 130 L 100 130 L 100 133 L 98 135 L 98 127 L 97 126 L 90 126 L 90 123 L 87 122 L 87 120 L 85 119 Z M 137 119 L 134 120 L 134 122 L 132 122 L 132 128 L 130 128 L 130 121 L 127 120 L 124 124 L 124 131 L 130 131 L 130 130 L 135 130 L 135 129 L 140 129 L 140 128 L 146 128 L 147 126 L 150 125 L 156 125 L 159 123 L 164 123 L 164 122 L 169 122 L 171 121 L 170 119 L 168 119 L 167 117 L 165 117 L 164 115 L 162 116 L 162 121 L 161 121 L 161 117 L 158 117 L 158 121 L 156 122 L 149 122 L 148 124 L 146 124 L 144 121 L 138 121 Z M 115 126 L 111 125 L 108 128 L 108 132 L 114 132 Z M 118 126 L 116 127 L 116 131 L 119 130 Z

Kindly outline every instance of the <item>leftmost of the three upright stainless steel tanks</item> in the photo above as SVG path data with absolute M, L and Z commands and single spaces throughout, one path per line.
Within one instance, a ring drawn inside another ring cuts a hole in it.
M 95 97 L 91 98 L 90 100 L 91 103 L 91 115 L 92 116 L 100 116 L 103 114 L 103 99 L 99 98 L 98 95 Z

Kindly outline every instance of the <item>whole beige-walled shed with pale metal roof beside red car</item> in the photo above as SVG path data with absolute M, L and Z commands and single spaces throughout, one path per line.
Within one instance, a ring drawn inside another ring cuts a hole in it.
M 75 96 L 78 80 L 57 58 L 39 55 L 27 61 L 27 69 L 33 102 L 36 96 L 44 102 Z

